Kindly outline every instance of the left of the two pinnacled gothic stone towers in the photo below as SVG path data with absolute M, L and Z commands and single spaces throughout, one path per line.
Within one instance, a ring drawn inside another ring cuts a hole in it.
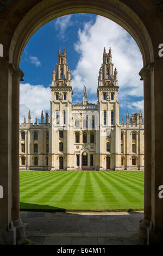
M 70 154 L 72 154 L 71 136 L 71 109 L 72 87 L 71 72 L 67 64 L 66 50 L 58 51 L 58 63 L 56 72 L 52 72 L 52 102 L 51 102 L 51 125 L 52 125 L 52 169 L 67 169 L 70 166 Z M 59 161 L 58 161 L 59 160 Z M 59 166 L 56 165 L 58 163 Z

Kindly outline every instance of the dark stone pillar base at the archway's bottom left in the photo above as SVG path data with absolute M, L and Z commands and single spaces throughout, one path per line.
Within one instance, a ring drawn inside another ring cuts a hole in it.
M 0 230 L 0 245 L 22 245 L 26 237 L 25 227 L 21 219 L 11 221 L 8 231 Z

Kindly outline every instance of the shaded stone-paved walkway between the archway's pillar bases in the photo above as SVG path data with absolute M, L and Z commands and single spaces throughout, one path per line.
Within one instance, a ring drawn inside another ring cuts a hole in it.
M 139 245 L 143 212 L 21 211 L 32 245 Z

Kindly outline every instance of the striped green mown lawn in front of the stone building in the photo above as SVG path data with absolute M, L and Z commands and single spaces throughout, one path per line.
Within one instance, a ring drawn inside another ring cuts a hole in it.
M 21 209 L 143 209 L 142 171 L 20 172 Z

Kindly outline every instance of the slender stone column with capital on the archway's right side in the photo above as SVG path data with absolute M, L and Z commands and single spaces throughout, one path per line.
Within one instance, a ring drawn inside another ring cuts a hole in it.
M 144 82 L 145 117 L 145 198 L 144 216 L 139 224 L 140 244 L 147 244 L 147 229 L 151 221 L 151 179 L 152 179 L 152 71 L 153 63 L 141 69 L 139 75 Z

